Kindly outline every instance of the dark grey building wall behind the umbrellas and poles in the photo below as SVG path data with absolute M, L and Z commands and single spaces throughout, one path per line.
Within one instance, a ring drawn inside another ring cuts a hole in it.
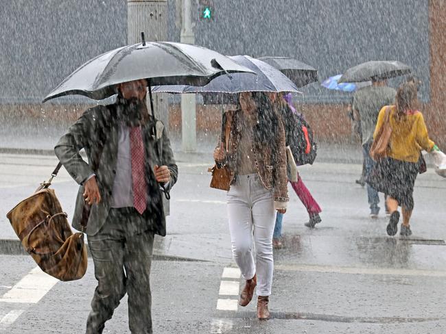
M 367 60 L 400 60 L 423 81 L 430 99 L 427 0 L 213 0 L 196 44 L 227 55 L 283 55 L 318 68 L 320 79 Z M 126 44 L 126 0 L 0 0 L 0 103 L 38 103 L 91 57 Z M 179 41 L 168 1 L 169 40 Z M 400 79 L 401 80 L 401 79 Z M 397 85 L 398 80 L 391 82 Z M 310 103 L 348 99 L 312 84 Z

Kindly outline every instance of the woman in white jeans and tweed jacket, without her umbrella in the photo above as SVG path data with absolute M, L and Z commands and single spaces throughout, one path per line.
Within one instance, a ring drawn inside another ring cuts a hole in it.
M 263 92 L 241 93 L 237 110 L 224 114 L 223 129 L 228 122 L 230 134 L 226 138 L 222 131 L 214 159 L 232 173 L 227 194 L 229 231 L 235 262 L 246 280 L 239 304 L 248 305 L 257 286 L 257 317 L 268 319 L 272 233 L 276 211 L 285 213 L 288 201 L 285 131 Z

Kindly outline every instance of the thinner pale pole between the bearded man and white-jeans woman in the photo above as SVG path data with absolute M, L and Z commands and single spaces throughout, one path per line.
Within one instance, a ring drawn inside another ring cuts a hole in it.
M 182 29 L 180 41 L 186 44 L 195 42 L 192 29 L 191 0 L 183 0 Z M 196 99 L 195 94 L 181 94 L 181 147 L 185 152 L 197 150 Z

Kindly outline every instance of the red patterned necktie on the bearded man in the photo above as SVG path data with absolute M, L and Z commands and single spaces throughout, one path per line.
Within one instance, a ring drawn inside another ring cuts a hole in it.
M 132 156 L 133 206 L 139 214 L 147 207 L 145 184 L 145 154 L 141 127 L 130 128 L 130 154 Z

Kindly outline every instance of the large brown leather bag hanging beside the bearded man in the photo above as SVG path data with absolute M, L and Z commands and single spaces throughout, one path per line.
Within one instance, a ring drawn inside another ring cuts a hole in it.
M 86 272 L 84 233 L 71 231 L 67 214 L 54 190 L 48 188 L 53 177 L 17 204 L 7 217 L 23 248 L 40 269 L 60 281 L 73 281 Z

